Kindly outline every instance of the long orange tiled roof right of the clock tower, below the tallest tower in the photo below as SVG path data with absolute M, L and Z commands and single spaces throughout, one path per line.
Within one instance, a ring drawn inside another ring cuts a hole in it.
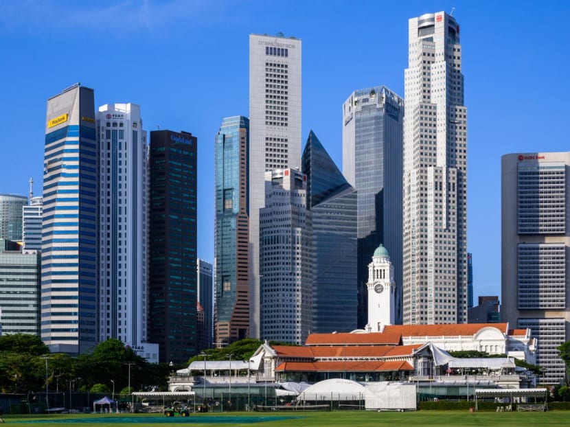
M 401 336 L 470 336 L 475 335 L 483 327 L 496 327 L 501 332 L 508 332 L 508 323 L 452 323 L 441 325 L 389 325 L 384 334 L 400 334 Z

